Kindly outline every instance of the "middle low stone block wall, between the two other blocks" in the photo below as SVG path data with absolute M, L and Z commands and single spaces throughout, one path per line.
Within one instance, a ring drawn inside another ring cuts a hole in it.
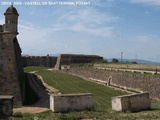
M 94 110 L 94 96 L 90 93 L 51 95 L 50 109 L 53 112 Z

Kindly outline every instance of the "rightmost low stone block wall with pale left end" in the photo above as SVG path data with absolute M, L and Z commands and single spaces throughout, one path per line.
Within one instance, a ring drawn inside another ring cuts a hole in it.
M 112 109 L 116 111 L 142 111 L 151 109 L 149 93 L 117 96 L 112 98 Z

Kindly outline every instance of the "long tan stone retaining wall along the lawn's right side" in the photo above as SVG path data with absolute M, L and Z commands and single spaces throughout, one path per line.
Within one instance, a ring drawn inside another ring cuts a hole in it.
M 99 79 L 124 88 L 148 91 L 151 98 L 160 99 L 160 76 L 152 74 L 126 73 L 120 71 L 99 70 L 93 68 L 71 68 L 71 74 L 89 79 Z

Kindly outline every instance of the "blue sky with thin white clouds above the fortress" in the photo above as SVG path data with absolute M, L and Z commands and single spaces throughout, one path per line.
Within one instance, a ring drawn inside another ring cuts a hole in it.
M 0 24 L 9 5 L 19 16 L 23 54 L 96 54 L 160 62 L 160 0 L 63 0 L 88 5 L 25 5 L 61 0 L 1 0 Z

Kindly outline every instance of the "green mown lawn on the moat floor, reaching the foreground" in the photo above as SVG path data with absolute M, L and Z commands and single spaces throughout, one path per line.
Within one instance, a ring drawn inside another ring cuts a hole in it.
M 54 88 L 58 89 L 62 94 L 69 93 L 92 93 L 95 97 L 95 111 L 82 111 L 69 113 L 46 113 L 37 114 L 39 118 L 51 120 L 78 120 L 78 118 L 94 118 L 98 120 L 106 119 L 158 119 L 160 113 L 160 104 L 157 101 L 152 102 L 154 110 L 138 113 L 116 112 L 111 109 L 111 98 L 114 96 L 128 94 L 122 91 L 113 90 L 104 85 L 96 84 L 80 77 L 76 77 L 67 73 L 58 71 L 49 71 L 44 67 L 26 67 L 25 72 L 37 71 L 44 81 Z M 157 107 L 158 106 L 158 107 Z M 32 115 L 34 116 L 34 115 Z

